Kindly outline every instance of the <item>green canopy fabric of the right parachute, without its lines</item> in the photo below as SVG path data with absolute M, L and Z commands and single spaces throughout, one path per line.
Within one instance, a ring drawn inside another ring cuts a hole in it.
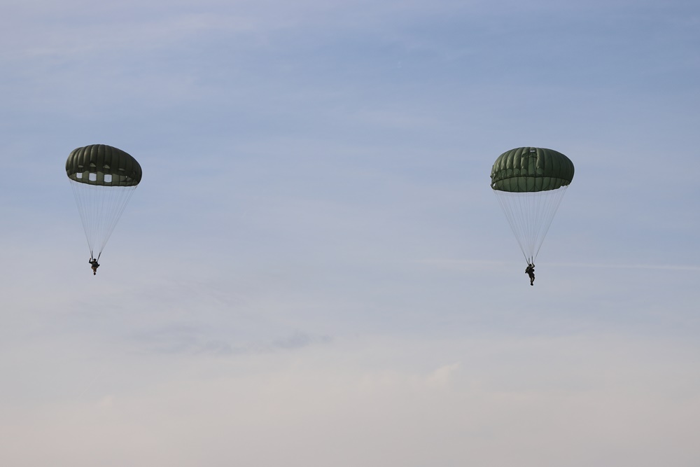
M 545 148 L 515 148 L 498 156 L 491 188 L 510 193 L 556 190 L 573 180 L 573 162 Z

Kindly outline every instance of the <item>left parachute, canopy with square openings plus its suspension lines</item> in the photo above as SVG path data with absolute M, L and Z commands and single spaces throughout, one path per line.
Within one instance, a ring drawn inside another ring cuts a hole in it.
M 91 144 L 71 151 L 66 174 L 83 222 L 90 258 L 99 258 L 141 181 L 141 165 L 118 148 Z

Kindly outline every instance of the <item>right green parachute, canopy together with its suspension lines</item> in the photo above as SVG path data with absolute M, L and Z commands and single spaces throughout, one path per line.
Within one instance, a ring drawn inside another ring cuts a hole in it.
M 528 264 L 540 252 L 573 172 L 566 155 L 546 148 L 511 149 L 493 163 L 491 188 Z

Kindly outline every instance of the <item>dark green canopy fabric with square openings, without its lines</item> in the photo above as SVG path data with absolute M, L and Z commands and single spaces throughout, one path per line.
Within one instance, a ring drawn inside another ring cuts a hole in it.
M 106 144 L 90 144 L 71 151 L 66 160 L 68 178 L 100 186 L 134 186 L 141 181 L 141 165 L 121 149 Z M 94 174 L 94 180 L 90 180 Z M 104 176 L 111 175 L 111 181 Z

